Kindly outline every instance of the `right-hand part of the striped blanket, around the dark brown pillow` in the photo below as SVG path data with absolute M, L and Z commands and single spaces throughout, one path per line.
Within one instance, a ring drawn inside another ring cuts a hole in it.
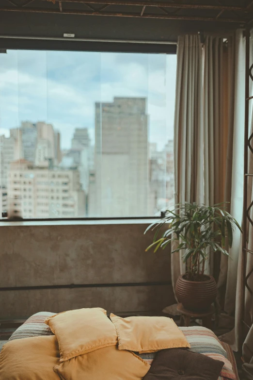
M 180 327 L 179 329 L 183 331 L 186 339 L 190 343 L 191 352 L 200 353 L 212 359 L 220 360 L 224 363 L 221 376 L 231 380 L 238 379 L 234 372 L 233 364 L 227 359 L 226 350 L 222 347 L 221 342 L 213 331 L 200 326 Z M 155 356 L 156 353 L 140 354 L 140 357 L 149 364 L 153 363 Z M 236 368 L 236 366 L 234 366 L 234 368 Z

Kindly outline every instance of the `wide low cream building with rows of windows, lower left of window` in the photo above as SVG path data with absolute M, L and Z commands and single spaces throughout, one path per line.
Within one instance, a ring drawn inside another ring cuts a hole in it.
M 27 160 L 10 164 L 8 215 L 23 218 L 68 218 L 86 215 L 79 171 L 34 167 Z

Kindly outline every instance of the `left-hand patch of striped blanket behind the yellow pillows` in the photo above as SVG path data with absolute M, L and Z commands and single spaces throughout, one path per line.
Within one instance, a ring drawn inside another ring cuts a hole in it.
M 19 326 L 12 334 L 9 340 L 29 338 L 32 336 L 52 335 L 50 327 L 46 325 L 45 320 L 55 315 L 55 313 L 40 312 L 33 314 L 23 325 Z

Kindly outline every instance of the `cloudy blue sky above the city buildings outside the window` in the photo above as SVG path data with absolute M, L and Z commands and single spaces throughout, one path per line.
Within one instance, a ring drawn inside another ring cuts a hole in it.
M 149 141 L 173 138 L 176 55 L 7 50 L 0 54 L 0 135 L 21 121 L 45 121 L 71 147 L 75 128 L 95 138 L 95 102 L 147 99 Z

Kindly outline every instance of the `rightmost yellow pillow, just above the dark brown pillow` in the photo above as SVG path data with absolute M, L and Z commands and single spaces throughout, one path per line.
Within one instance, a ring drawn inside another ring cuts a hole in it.
M 165 348 L 190 347 L 183 332 L 168 317 L 110 315 L 119 341 L 119 349 L 155 352 Z

